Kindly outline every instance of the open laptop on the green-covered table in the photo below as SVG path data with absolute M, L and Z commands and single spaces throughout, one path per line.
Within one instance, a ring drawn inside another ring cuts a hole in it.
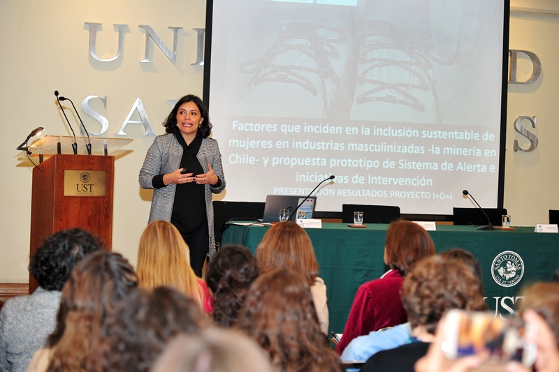
M 317 204 L 317 197 L 310 196 L 305 200 L 305 195 L 266 195 L 266 204 L 264 204 L 264 216 L 262 221 L 267 223 L 279 222 L 279 209 L 287 208 L 291 215 L 300 202 L 303 202 L 303 204 L 301 204 L 297 212 L 293 214 L 291 221 L 295 221 L 297 218 L 312 218 L 314 215 L 314 206 Z

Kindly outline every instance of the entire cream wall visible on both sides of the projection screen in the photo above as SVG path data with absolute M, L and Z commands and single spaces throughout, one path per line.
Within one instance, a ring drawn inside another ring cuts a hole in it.
M 511 7 L 510 48 L 535 52 L 544 72 L 534 84 L 509 86 L 504 207 L 509 209 L 513 225 L 535 225 L 546 223 L 548 209 L 559 209 L 559 198 L 553 192 L 559 181 L 559 149 L 552 142 L 559 134 L 555 125 L 559 4 L 512 0 Z M 542 11 L 546 14 L 540 14 Z M 124 53 L 117 61 L 101 63 L 89 57 L 85 22 L 103 24 L 97 38 L 97 53 L 102 58 L 112 57 L 117 50 L 112 24 L 128 24 Z M 157 47 L 152 53 L 154 64 L 139 63 L 145 52 L 145 34 L 139 24 L 150 25 L 169 48 L 173 34 L 168 27 L 183 27 L 176 64 Z M 37 126 L 45 127 L 44 135 L 70 134 L 53 92 L 59 90 L 76 104 L 89 95 L 107 96 L 106 109 L 94 105 L 110 124 L 103 137 L 117 137 L 115 133 L 140 98 L 152 128 L 161 134 L 161 121 L 170 110 L 166 99 L 202 94 L 203 68 L 191 66 L 196 59 L 192 29 L 204 27 L 203 0 L 0 1 L 0 282 L 25 283 L 28 278 L 31 166 L 15 158 L 19 153 L 15 147 Z M 528 73 L 528 67 L 522 68 Z M 77 128 L 71 111 L 67 112 Z M 512 126 L 520 115 L 537 116 L 538 127 L 530 131 L 539 137 L 539 147 L 531 153 L 512 151 L 514 139 L 526 145 Z M 82 115 L 82 119 L 90 131 L 99 131 L 92 118 Z M 137 120 L 137 115 L 132 119 Z M 144 137 L 138 124 L 129 124 L 126 133 L 133 142 L 126 146 L 129 153 L 115 162 L 112 248 L 135 265 L 151 200 L 151 193 L 138 186 L 138 170 L 153 137 Z

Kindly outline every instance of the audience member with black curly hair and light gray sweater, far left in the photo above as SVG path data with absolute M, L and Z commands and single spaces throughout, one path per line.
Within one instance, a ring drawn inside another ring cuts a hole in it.
M 55 232 L 45 239 L 29 264 L 38 288 L 10 299 L 0 313 L 0 371 L 25 371 L 33 353 L 55 329 L 62 287 L 78 261 L 102 248 L 82 229 Z

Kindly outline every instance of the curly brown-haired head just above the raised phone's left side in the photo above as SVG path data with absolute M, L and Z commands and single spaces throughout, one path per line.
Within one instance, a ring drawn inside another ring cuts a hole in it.
M 453 258 L 434 255 L 416 263 L 402 285 L 402 304 L 413 327 L 435 333 L 437 322 L 451 308 L 486 309 L 479 279 Z

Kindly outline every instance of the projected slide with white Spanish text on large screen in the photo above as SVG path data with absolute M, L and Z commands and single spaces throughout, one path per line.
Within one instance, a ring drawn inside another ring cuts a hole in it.
M 496 207 L 503 0 L 213 0 L 224 200 Z M 208 87 L 205 87 L 208 89 Z

